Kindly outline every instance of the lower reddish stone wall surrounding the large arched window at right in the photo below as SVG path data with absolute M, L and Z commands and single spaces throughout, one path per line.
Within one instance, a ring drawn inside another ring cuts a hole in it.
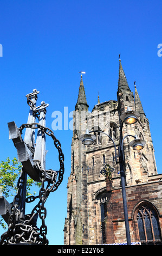
M 162 176 L 162 175 L 161 175 Z M 159 177 L 158 177 L 159 178 Z M 109 181 L 107 180 L 107 187 Z M 138 233 L 138 224 L 135 216 L 135 212 L 138 206 L 142 202 L 151 203 L 157 210 L 159 217 L 160 229 L 162 230 L 162 194 L 161 194 L 162 181 L 151 181 L 146 184 L 140 184 L 135 186 L 126 187 L 127 196 L 127 208 L 128 208 L 128 220 L 129 229 L 131 234 L 131 241 L 140 241 Z M 109 221 L 107 220 L 106 226 L 106 243 L 119 243 L 125 242 L 125 222 L 124 222 L 124 210 L 122 204 L 122 191 L 121 188 L 109 190 L 111 193 L 111 203 L 107 203 L 107 216 L 110 220 L 110 215 L 113 216 L 113 230 Z M 110 235 L 114 233 L 114 237 Z

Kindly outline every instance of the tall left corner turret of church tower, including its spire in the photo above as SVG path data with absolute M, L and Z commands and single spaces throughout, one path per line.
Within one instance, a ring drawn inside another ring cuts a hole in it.
M 82 75 L 79 95 L 73 113 L 73 138 L 72 138 L 72 169 L 68 179 L 68 217 L 65 222 L 66 245 L 86 245 L 88 242 L 87 228 L 83 232 L 87 221 L 87 172 L 86 147 L 82 145 L 79 137 L 86 131 L 86 118 L 88 114 L 85 87 Z M 83 210 L 84 208 L 84 210 Z

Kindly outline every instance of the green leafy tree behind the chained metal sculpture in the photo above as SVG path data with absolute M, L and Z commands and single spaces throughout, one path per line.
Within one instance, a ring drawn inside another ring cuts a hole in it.
M 5 198 L 14 197 L 16 195 L 17 181 L 20 177 L 21 169 L 22 164 L 19 163 L 15 157 L 13 160 L 10 160 L 8 157 L 7 161 L 0 162 L 0 192 Z M 27 197 L 36 193 L 35 191 L 30 193 L 33 185 L 36 185 L 37 187 L 41 186 L 39 182 L 35 182 L 33 179 L 28 177 L 26 193 Z M 0 225 L 2 225 L 4 229 L 6 228 L 2 218 L 0 218 Z

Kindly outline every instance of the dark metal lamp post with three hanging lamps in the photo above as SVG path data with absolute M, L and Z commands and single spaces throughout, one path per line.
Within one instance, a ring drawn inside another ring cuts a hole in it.
M 125 155 L 124 155 L 124 139 L 128 136 L 131 136 L 134 138 L 132 142 L 129 143 L 131 147 L 133 147 L 134 150 L 141 150 L 144 148 L 145 141 L 143 139 L 139 139 L 137 135 L 126 135 L 124 138 L 122 138 L 122 127 L 123 124 L 134 124 L 138 121 L 139 114 L 135 111 L 131 111 L 131 109 L 128 107 L 127 111 L 124 112 L 121 116 L 120 119 L 122 120 L 121 125 L 120 125 L 120 143 L 119 143 L 119 155 L 116 154 L 116 145 L 115 142 L 113 141 L 113 138 L 109 136 L 107 133 L 102 132 L 102 131 L 89 131 L 88 129 L 86 130 L 85 135 L 80 136 L 80 141 L 84 145 L 90 145 L 93 144 L 96 136 L 92 135 L 92 132 L 100 132 L 108 136 L 111 141 L 114 144 L 114 149 L 115 149 L 115 162 L 116 164 L 119 163 L 120 165 L 120 176 L 121 176 L 121 190 L 122 190 L 122 200 L 123 200 L 123 205 L 124 205 L 124 216 L 125 216 L 125 228 L 126 228 L 126 237 L 127 237 L 127 245 L 131 245 L 131 237 L 130 237 L 130 232 L 129 232 L 129 223 L 128 223 L 128 210 L 127 210 L 127 199 L 126 199 L 126 188 L 125 188 Z M 117 157 L 119 157 L 119 162 L 117 160 Z

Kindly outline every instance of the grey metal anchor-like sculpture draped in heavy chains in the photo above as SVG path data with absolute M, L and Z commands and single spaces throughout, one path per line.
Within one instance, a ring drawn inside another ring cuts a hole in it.
M 60 142 L 54 136 L 53 131 L 46 127 L 46 112 L 49 104 L 44 101 L 36 107 L 37 89 L 26 95 L 30 107 L 28 123 L 18 128 L 14 121 L 8 123 L 9 139 L 12 139 L 16 149 L 18 162 L 22 163 L 20 178 L 17 183 L 17 194 L 10 204 L 3 196 L 0 196 L 0 215 L 8 223 L 8 230 L 1 235 L 0 245 L 48 245 L 47 225 L 45 218 L 47 210 L 44 203 L 50 194 L 57 190 L 63 179 L 64 156 Z M 36 123 L 36 118 L 38 123 Z M 25 130 L 24 139 L 22 131 Z M 36 136 L 37 131 L 37 136 Z M 60 169 L 46 170 L 46 135 L 50 136 L 59 153 Z M 36 140 L 36 143 L 35 143 Z M 39 196 L 26 198 L 27 175 L 34 181 L 41 182 Z M 47 185 L 46 185 L 47 184 Z M 25 204 L 38 203 L 25 215 Z M 41 227 L 37 227 L 37 218 L 41 219 Z

